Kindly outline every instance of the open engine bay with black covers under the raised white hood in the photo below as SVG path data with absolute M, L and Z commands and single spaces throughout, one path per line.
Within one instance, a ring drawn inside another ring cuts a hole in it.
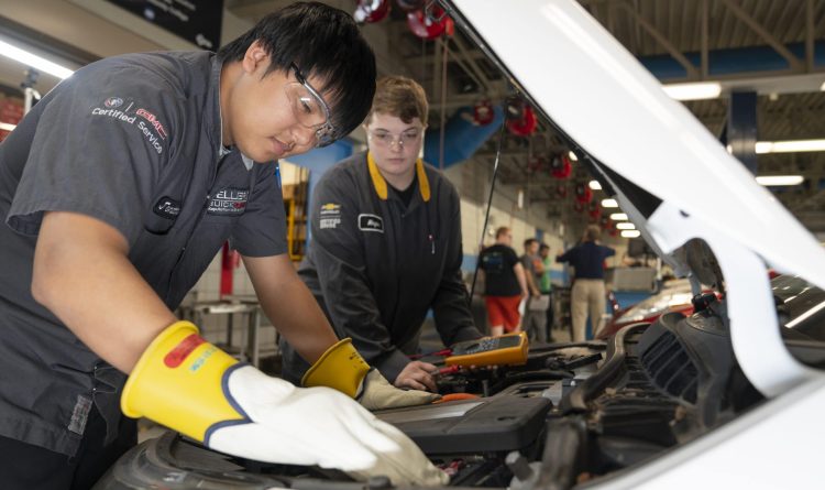
M 376 412 L 407 434 L 450 487 L 558 488 L 654 458 L 759 403 L 733 355 L 724 302 L 697 298 L 605 341 L 535 345 L 522 366 L 439 380 L 441 403 Z M 284 444 L 289 444 L 285 440 Z M 392 488 L 334 470 L 211 451 L 175 433 L 133 448 L 96 489 Z

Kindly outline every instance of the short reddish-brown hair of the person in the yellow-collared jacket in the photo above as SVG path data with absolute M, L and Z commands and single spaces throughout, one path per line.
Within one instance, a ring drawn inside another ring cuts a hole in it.
M 416 80 L 399 75 L 385 76 L 376 84 L 366 124 L 370 124 L 374 113 L 383 113 L 394 116 L 407 124 L 418 118 L 427 126 L 428 112 L 427 94 Z

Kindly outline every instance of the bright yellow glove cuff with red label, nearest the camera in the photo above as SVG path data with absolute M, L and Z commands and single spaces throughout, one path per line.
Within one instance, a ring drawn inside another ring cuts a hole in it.
M 223 373 L 238 360 L 176 322 L 148 345 L 123 388 L 127 416 L 147 417 L 205 442 L 210 426 L 244 420 L 223 392 Z

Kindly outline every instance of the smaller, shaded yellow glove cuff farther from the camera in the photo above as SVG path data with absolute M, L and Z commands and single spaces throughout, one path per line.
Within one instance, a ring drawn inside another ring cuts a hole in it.
M 351 338 L 339 340 L 304 374 L 304 386 L 328 386 L 355 398 L 370 366 L 364 361 Z

